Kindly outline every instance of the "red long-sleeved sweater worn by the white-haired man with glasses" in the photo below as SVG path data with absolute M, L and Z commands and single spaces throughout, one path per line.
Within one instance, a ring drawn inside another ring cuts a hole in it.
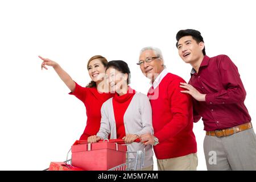
M 177 158 L 197 152 L 192 130 L 192 100 L 189 94 L 180 92 L 183 90 L 180 82 L 185 81 L 168 73 L 158 87 L 148 91 L 154 135 L 159 139 L 159 144 L 154 146 L 157 159 Z

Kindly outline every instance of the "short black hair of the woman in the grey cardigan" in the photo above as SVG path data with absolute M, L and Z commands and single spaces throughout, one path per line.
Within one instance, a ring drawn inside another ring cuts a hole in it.
M 109 68 L 117 69 L 119 72 L 123 74 L 127 73 L 128 74 L 127 85 L 130 84 L 131 72 L 127 63 L 125 63 L 125 61 L 122 61 L 122 60 L 109 61 L 109 63 L 106 65 L 106 70 Z

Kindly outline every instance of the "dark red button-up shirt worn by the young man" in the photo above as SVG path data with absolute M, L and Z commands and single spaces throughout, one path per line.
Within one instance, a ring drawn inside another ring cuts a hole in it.
M 194 122 L 202 117 L 204 130 L 227 129 L 251 121 L 244 104 L 245 88 L 228 56 L 204 56 L 199 72 L 192 69 L 189 84 L 206 94 L 205 102 L 193 99 Z

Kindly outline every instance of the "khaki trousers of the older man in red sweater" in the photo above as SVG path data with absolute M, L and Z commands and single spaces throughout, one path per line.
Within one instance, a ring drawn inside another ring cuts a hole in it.
M 178 158 L 158 159 L 159 171 L 196 171 L 196 167 L 196 154 L 188 154 Z

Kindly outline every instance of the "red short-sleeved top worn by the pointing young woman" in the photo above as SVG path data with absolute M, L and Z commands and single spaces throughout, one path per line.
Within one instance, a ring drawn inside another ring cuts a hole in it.
M 84 88 L 76 83 L 74 92 L 69 93 L 84 102 L 86 107 L 87 122 L 80 140 L 85 140 L 91 135 L 96 135 L 101 126 L 101 106 L 114 94 L 99 93 L 97 88 Z

